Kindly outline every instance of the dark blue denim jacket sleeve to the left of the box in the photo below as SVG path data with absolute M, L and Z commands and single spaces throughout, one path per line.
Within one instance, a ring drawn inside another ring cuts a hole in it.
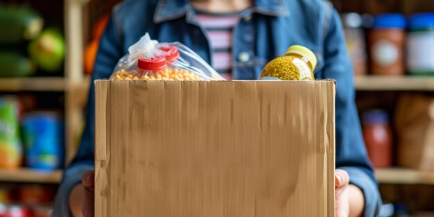
M 121 58 L 119 49 L 119 34 L 116 33 L 114 17 L 107 24 L 107 28 L 96 56 L 96 64 L 89 89 L 89 100 L 87 102 L 86 126 L 83 132 L 78 153 L 70 166 L 64 171 L 62 182 L 59 186 L 53 209 L 54 217 L 71 216 L 69 211 L 69 192 L 74 186 L 80 183 L 85 171 L 94 169 L 94 80 L 99 78 L 109 78 L 114 69 L 114 65 Z

